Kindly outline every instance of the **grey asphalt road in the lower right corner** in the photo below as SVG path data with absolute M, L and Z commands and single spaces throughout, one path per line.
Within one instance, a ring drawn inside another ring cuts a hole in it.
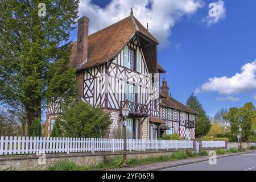
M 256 171 L 256 152 L 217 158 L 217 164 L 208 161 L 163 169 L 163 171 Z

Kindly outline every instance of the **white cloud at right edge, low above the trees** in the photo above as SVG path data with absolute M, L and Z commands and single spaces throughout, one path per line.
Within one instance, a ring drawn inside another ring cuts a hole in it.
M 241 72 L 232 77 L 209 78 L 209 81 L 195 90 L 199 92 L 218 92 L 219 94 L 240 94 L 256 91 L 256 60 L 242 66 Z

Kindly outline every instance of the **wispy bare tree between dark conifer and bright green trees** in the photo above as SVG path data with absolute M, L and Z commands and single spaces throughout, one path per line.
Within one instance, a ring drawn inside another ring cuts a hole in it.
M 227 109 L 221 109 L 214 115 L 214 121 L 217 121 L 224 130 L 224 133 L 230 131 L 230 123 L 228 119 L 225 119 L 225 115 L 228 113 Z

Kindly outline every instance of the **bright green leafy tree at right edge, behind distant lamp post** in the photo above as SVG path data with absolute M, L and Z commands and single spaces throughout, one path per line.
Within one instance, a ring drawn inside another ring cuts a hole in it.
M 231 107 L 225 119 L 230 122 L 230 130 L 233 134 L 239 134 L 239 127 L 242 128 L 242 140 L 246 141 L 253 134 L 252 126 L 256 118 L 256 111 L 253 103 L 248 102 L 240 108 Z

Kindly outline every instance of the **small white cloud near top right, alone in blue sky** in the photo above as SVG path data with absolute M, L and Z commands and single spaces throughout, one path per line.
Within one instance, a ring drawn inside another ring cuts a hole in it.
M 225 3 L 223 0 L 210 3 L 209 8 L 209 15 L 203 19 L 203 22 L 207 23 L 208 26 L 213 23 L 218 23 L 226 17 Z

